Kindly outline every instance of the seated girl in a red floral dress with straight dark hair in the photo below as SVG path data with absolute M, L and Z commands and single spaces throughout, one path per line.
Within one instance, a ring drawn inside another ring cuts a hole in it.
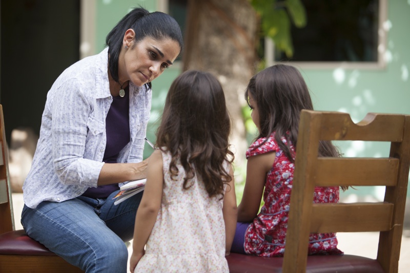
M 288 65 L 275 65 L 257 73 L 249 82 L 245 99 L 259 135 L 246 154 L 247 179 L 231 251 L 283 256 L 300 111 L 313 110 L 312 100 L 299 71 Z M 319 154 L 339 156 L 329 141 L 320 143 Z M 258 213 L 262 194 L 264 203 Z M 338 187 L 316 187 L 315 203 L 338 200 Z M 336 234 L 312 234 L 309 254 L 342 254 Z

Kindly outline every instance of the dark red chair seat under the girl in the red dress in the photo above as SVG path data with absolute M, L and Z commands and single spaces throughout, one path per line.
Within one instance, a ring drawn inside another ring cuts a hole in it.
M 227 256 L 230 273 L 282 272 L 282 257 L 265 258 L 231 253 Z M 370 258 L 354 255 L 315 255 L 308 257 L 306 272 L 315 273 L 384 273 L 380 264 Z

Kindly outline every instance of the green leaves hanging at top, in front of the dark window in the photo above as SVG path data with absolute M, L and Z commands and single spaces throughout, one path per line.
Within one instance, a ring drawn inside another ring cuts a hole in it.
M 263 35 L 273 39 L 275 46 L 293 56 L 291 21 L 298 27 L 306 25 L 306 11 L 300 0 L 251 0 L 261 18 Z

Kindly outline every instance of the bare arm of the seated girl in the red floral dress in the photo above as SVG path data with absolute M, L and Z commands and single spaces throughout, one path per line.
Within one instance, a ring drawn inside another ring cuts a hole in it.
M 275 156 L 275 152 L 270 152 L 248 158 L 247 180 L 238 206 L 238 222 L 252 222 L 257 216 L 266 175 L 272 169 Z

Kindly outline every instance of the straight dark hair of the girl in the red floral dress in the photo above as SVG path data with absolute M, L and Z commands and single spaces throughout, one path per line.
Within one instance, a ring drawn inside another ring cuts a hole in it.
M 265 137 L 267 141 L 269 136 L 276 132 L 276 142 L 285 155 L 294 162 L 295 155 L 288 145 L 292 143 L 296 149 L 300 111 L 313 110 L 312 99 L 302 75 L 292 66 L 274 65 L 251 78 L 245 91 L 247 101 L 249 94 L 256 101 L 259 110 L 258 138 Z M 287 140 L 288 145 L 283 143 L 281 137 Z M 319 155 L 340 156 L 330 141 L 320 142 Z

